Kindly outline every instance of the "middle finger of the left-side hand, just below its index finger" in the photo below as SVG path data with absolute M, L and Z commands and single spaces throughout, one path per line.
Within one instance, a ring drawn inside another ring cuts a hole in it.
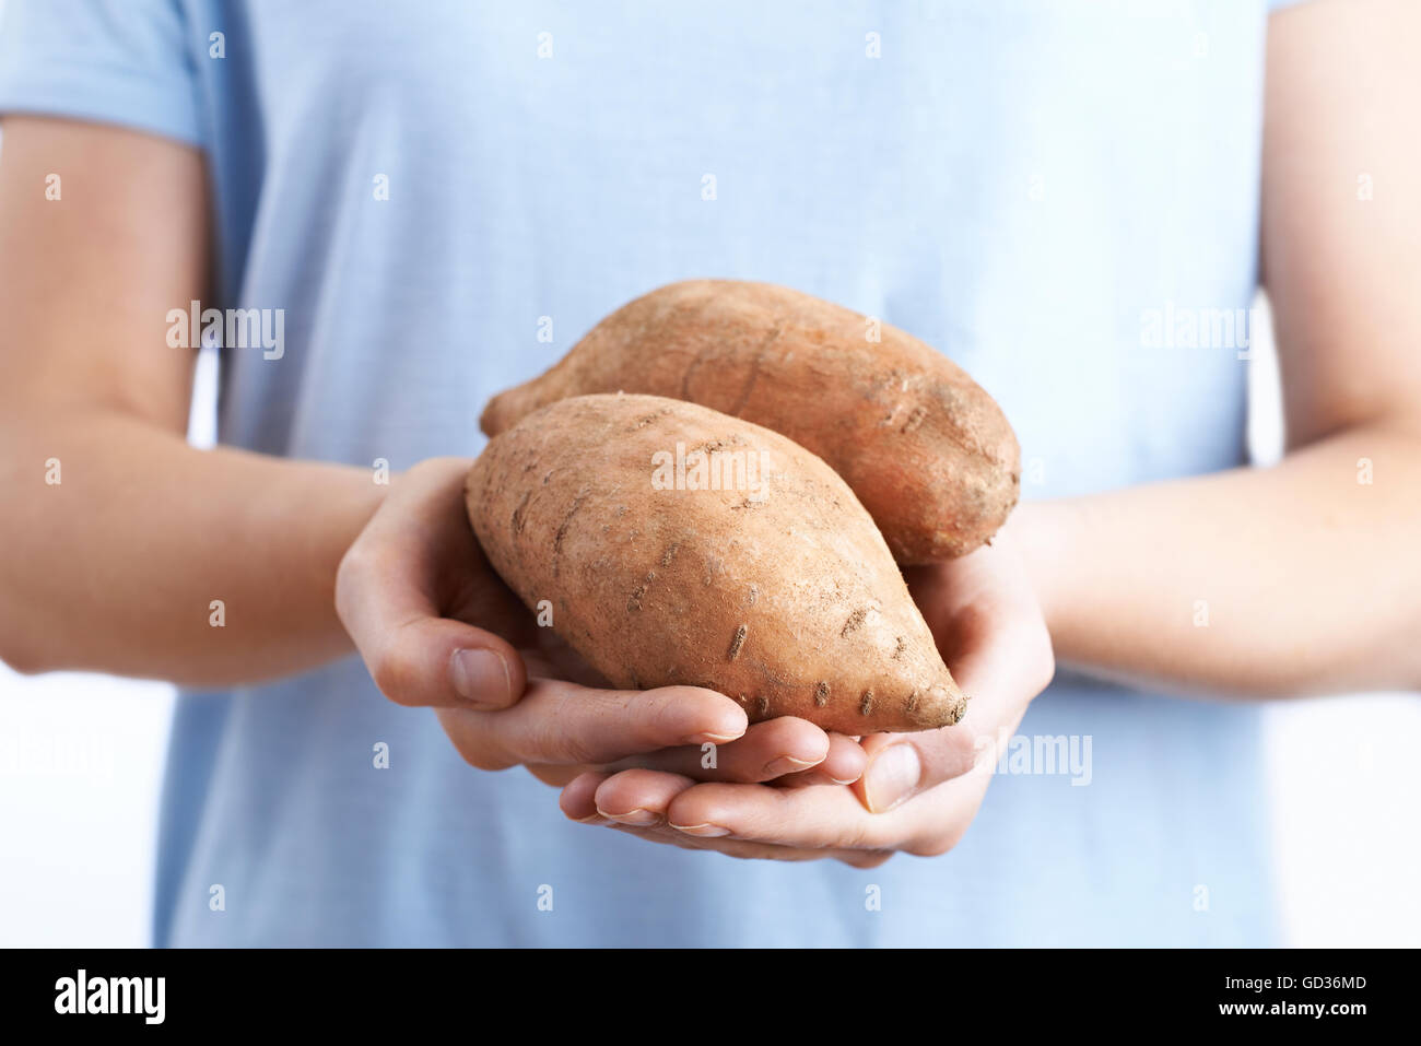
M 799 773 L 824 762 L 831 749 L 824 730 L 806 719 L 783 716 L 753 723 L 745 736 L 726 745 L 674 748 L 615 763 L 679 773 L 696 780 L 756 782 Z

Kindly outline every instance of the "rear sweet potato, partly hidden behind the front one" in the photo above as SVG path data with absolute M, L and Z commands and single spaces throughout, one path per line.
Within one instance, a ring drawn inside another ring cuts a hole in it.
M 780 432 L 837 470 L 899 563 L 963 556 L 1020 493 L 1002 409 L 911 334 L 764 283 L 688 280 L 603 320 L 551 370 L 495 397 L 493 436 L 590 392 L 685 399 Z

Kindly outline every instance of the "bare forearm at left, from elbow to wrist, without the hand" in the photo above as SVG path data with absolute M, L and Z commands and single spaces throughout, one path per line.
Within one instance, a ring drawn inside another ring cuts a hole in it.
M 198 451 L 121 414 L 0 425 L 0 654 L 14 667 L 202 686 L 350 649 L 334 578 L 387 489 L 369 472 Z

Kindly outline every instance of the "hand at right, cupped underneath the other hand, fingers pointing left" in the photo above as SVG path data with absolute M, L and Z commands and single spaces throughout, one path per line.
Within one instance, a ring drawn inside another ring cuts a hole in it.
M 986 794 L 998 746 L 1054 672 L 1050 637 L 1006 537 L 951 563 L 905 571 L 944 661 L 971 696 L 955 726 L 861 742 L 864 776 L 848 786 L 696 783 L 631 769 L 583 773 L 563 789 L 573 820 L 733 857 L 855 867 L 897 851 L 946 853 Z

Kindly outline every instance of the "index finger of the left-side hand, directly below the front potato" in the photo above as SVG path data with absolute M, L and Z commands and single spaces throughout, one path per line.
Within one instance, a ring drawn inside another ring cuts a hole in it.
M 699 686 L 603 691 L 533 679 L 499 712 L 439 708 L 459 753 L 485 770 L 514 763 L 614 763 L 676 745 L 723 745 L 745 733 L 745 709 Z

